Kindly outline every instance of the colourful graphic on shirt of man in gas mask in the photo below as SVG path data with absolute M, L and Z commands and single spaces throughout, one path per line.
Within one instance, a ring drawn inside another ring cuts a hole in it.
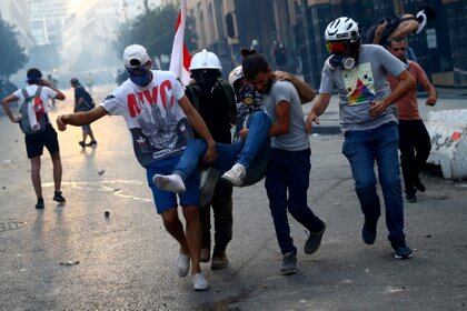
M 342 78 L 350 106 L 361 104 L 375 99 L 375 80 L 369 62 L 344 70 Z

